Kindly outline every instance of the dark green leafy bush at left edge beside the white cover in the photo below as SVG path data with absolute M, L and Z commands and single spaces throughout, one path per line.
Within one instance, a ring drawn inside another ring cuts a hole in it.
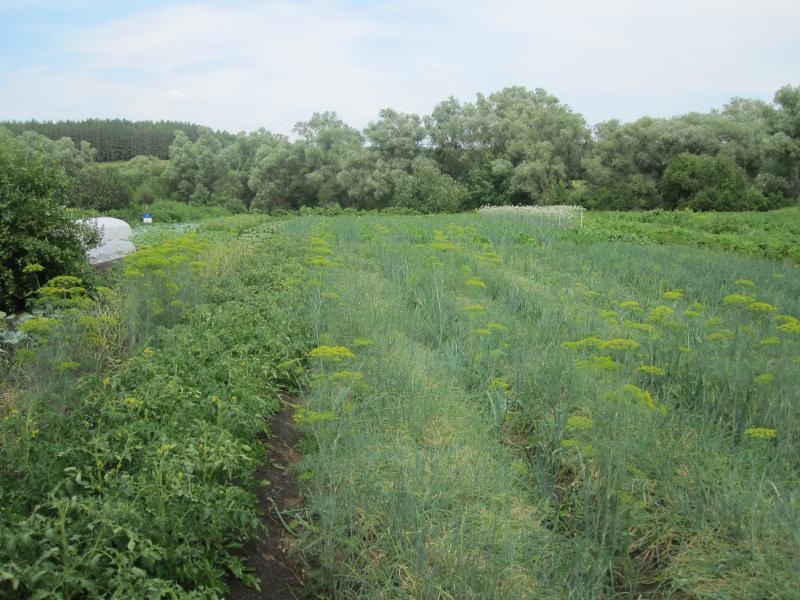
M 0 310 L 24 308 L 40 282 L 90 272 L 98 232 L 70 219 L 59 202 L 68 189 L 62 170 L 0 137 Z

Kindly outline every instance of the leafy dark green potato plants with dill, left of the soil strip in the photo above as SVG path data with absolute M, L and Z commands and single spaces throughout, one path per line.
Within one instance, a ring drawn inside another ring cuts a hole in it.
M 55 313 L 24 325 L 0 390 L 0 595 L 256 585 L 235 549 L 265 535 L 258 437 L 305 350 L 301 269 L 267 224 L 140 251 L 94 300 L 63 278 L 40 292 Z

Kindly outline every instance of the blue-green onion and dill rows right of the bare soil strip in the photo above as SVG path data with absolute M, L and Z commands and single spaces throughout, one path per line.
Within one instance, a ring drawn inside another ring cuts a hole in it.
M 797 267 L 477 215 L 289 228 L 320 593 L 792 597 Z

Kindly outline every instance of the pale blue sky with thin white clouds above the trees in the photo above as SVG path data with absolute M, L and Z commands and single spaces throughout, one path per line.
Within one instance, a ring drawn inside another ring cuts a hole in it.
M 796 0 L 0 0 L 0 120 L 363 127 L 510 85 L 588 123 L 800 84 Z

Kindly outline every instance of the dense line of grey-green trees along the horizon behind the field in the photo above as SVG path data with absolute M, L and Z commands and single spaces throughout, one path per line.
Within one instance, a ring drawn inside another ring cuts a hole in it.
M 69 204 L 96 210 L 160 199 L 231 211 L 562 203 L 767 210 L 800 193 L 793 86 L 772 103 L 735 98 L 708 113 L 594 127 L 544 90 L 516 86 L 474 102 L 449 98 L 425 116 L 387 108 L 363 130 L 322 112 L 290 136 L 101 120 L 13 123 L 0 128 L 3 136 L 72 178 Z

